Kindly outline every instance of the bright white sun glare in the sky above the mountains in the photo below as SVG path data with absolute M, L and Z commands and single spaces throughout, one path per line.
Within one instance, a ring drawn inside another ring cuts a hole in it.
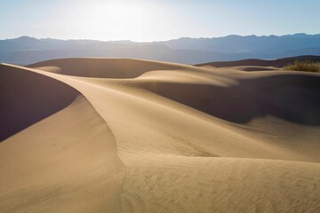
M 64 10 L 67 10 L 66 8 Z M 68 12 L 60 12 L 58 26 L 61 35 L 71 37 L 75 32 L 82 37 L 94 37 L 98 40 L 155 41 L 160 38 L 179 37 L 184 26 L 179 19 L 173 19 L 176 12 L 156 2 L 128 0 L 92 0 L 79 4 L 70 4 Z M 166 28 L 166 30 L 164 30 Z M 188 26 L 186 27 L 187 30 Z M 67 30 L 66 30 L 67 29 Z M 70 36 L 68 36 L 70 35 Z M 93 36 L 92 36 L 93 35 Z

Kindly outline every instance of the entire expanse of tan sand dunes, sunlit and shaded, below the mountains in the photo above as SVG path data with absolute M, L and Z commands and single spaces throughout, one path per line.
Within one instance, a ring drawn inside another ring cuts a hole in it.
M 319 212 L 320 75 L 0 64 L 0 212 Z

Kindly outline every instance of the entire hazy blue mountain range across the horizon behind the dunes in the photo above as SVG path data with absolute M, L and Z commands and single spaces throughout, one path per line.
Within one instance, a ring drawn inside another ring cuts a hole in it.
M 238 59 L 279 59 L 299 55 L 320 55 L 320 34 L 182 37 L 152 43 L 37 39 L 28 36 L 0 40 L 0 62 L 20 65 L 46 59 L 77 57 L 156 59 L 200 64 Z

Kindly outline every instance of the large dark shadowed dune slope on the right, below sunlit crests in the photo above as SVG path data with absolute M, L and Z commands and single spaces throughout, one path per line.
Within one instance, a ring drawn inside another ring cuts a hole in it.
M 320 125 L 320 77 L 276 75 L 239 80 L 222 87 L 196 83 L 143 83 L 148 91 L 229 122 L 273 115 L 290 122 Z

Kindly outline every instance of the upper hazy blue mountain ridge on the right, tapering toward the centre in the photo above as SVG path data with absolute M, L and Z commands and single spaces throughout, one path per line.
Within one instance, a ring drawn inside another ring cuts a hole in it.
M 320 47 L 320 35 L 295 34 L 289 36 L 225 36 L 214 38 L 180 38 L 164 42 L 172 49 L 197 51 L 282 52 Z

